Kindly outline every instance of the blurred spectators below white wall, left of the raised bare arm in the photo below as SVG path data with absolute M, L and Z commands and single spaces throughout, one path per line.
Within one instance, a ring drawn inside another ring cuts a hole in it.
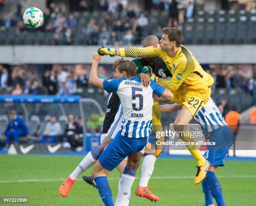
M 43 74 L 39 70 L 32 71 L 27 65 L 0 65 L 0 89 L 11 90 L 12 95 L 69 95 L 89 86 L 90 65 L 54 64 Z M 102 79 L 110 78 L 106 76 L 103 66 L 99 68 L 99 76 Z

